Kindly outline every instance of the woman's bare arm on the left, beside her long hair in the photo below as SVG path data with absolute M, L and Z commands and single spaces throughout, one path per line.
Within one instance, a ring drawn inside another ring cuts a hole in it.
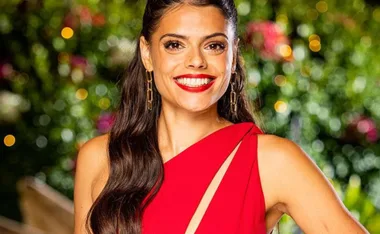
M 87 213 L 108 178 L 107 135 L 95 137 L 79 150 L 74 186 L 75 234 L 87 234 Z

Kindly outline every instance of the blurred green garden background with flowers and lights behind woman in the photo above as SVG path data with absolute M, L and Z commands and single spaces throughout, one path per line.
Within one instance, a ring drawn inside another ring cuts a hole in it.
M 236 0 L 247 89 L 380 233 L 380 2 Z M 25 176 L 73 198 L 80 146 L 106 133 L 145 1 L 0 0 L 0 215 Z M 306 178 L 307 179 L 307 178 Z M 302 233 L 289 216 L 281 233 Z

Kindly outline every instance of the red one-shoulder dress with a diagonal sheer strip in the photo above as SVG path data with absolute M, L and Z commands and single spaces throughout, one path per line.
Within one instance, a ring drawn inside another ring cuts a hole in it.
M 265 234 L 265 201 L 253 123 L 219 129 L 164 164 L 164 182 L 146 208 L 143 234 L 184 234 L 203 194 L 241 142 L 204 213 L 197 234 Z

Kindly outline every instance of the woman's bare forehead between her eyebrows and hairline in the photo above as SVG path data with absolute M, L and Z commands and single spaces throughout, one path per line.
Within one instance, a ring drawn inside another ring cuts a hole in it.
M 233 37 L 233 26 L 215 6 L 181 4 L 167 10 L 157 25 L 153 37 L 167 33 L 191 37 L 203 37 L 221 32 Z

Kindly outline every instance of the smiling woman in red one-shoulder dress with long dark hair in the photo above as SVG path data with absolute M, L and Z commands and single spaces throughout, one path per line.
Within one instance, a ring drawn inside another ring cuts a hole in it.
M 148 0 L 109 135 L 78 155 L 75 233 L 367 233 L 312 160 L 263 134 L 232 0 Z M 87 218 L 87 219 L 86 219 Z

